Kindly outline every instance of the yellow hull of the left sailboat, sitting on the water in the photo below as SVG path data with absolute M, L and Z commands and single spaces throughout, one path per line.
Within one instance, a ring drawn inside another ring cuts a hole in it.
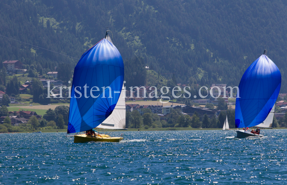
M 91 136 L 86 134 L 80 134 L 74 136 L 74 143 L 86 143 L 90 141 L 94 142 L 120 142 L 123 140 L 123 137 L 110 137 L 109 135 L 101 135 L 102 137 L 98 136 Z

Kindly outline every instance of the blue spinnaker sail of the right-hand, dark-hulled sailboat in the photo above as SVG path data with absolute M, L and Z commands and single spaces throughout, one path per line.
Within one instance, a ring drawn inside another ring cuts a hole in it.
M 240 98 L 236 98 L 236 128 L 263 122 L 276 102 L 280 87 L 278 67 L 266 55 L 261 55 L 248 67 L 238 85 Z

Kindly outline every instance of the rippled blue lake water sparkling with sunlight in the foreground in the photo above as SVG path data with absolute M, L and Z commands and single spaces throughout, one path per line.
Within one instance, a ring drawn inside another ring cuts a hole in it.
M 124 132 L 119 143 L 0 134 L 0 184 L 286 184 L 287 130 L 263 132 Z

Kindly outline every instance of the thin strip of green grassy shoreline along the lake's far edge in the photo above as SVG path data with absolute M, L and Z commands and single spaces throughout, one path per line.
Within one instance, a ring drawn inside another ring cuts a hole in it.
M 287 127 L 278 127 L 273 129 L 287 129 Z M 42 133 L 67 133 L 66 129 L 46 129 L 46 130 L 38 130 Z M 100 131 L 104 131 L 104 129 L 100 129 Z M 222 128 L 191 128 L 191 127 L 167 127 L 167 128 L 149 128 L 149 129 L 139 129 L 139 131 L 208 131 L 208 130 L 222 130 Z M 235 128 L 230 129 L 230 131 L 234 131 Z M 265 129 L 263 129 L 265 130 Z M 269 129 L 268 129 L 269 130 Z M 272 130 L 272 129 L 271 129 Z M 108 130 L 108 132 L 133 132 L 138 131 L 138 128 L 128 128 L 128 130 Z M 33 132 L 19 132 L 19 133 L 33 133 Z M 8 133 L 1 133 L 8 134 Z M 9 133 L 9 134 L 18 134 L 18 133 Z

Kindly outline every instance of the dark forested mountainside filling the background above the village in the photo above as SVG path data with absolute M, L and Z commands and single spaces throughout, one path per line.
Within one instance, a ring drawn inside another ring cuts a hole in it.
M 0 34 L 79 59 L 108 27 L 129 85 L 144 85 L 144 65 L 177 83 L 238 85 L 267 49 L 286 92 L 286 14 L 287 1 L 273 0 L 2 0 Z M 77 63 L 1 36 L 0 59 L 44 72 Z

